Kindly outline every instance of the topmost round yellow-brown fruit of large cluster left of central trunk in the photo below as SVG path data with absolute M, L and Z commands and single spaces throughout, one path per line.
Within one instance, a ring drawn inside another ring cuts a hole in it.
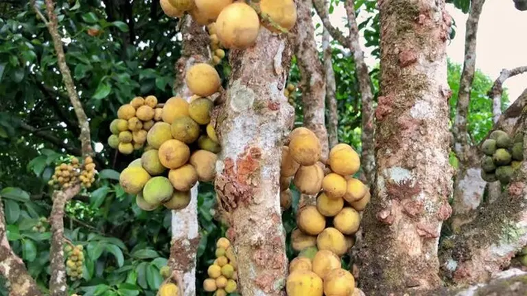
M 191 66 L 185 75 L 185 82 L 192 93 L 201 97 L 209 97 L 209 95 L 217 92 L 221 85 L 218 71 L 205 63 Z

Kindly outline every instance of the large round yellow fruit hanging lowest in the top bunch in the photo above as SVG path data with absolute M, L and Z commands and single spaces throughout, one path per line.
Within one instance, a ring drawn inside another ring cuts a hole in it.
M 220 12 L 215 24 L 222 45 L 244 49 L 255 44 L 260 29 L 258 14 L 246 3 L 232 3 Z

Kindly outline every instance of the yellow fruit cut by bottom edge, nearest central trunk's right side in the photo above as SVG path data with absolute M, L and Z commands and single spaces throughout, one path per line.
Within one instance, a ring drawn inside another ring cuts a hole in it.
M 288 296 L 322 296 L 322 279 L 312 271 L 294 271 L 285 284 Z

